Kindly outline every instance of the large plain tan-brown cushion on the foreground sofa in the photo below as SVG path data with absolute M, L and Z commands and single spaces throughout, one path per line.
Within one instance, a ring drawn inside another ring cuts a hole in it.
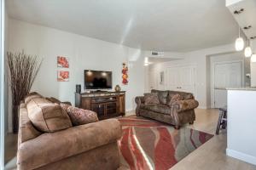
M 72 127 L 67 112 L 58 104 L 44 98 L 33 98 L 27 105 L 28 117 L 32 124 L 41 132 L 53 133 Z

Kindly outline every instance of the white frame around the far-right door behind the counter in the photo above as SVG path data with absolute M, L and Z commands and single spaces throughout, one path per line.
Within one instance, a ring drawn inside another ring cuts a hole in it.
M 215 101 L 215 89 L 214 89 L 214 82 L 215 82 L 215 66 L 221 64 L 232 64 L 232 63 L 240 63 L 241 64 L 241 86 L 244 85 L 244 60 L 236 59 L 230 61 L 213 61 L 211 63 L 211 108 L 215 108 L 214 101 Z

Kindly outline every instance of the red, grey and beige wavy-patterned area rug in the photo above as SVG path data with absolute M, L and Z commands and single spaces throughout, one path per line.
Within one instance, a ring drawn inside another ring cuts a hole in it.
M 187 127 L 174 127 L 137 116 L 119 118 L 121 163 L 131 170 L 166 170 L 212 138 Z

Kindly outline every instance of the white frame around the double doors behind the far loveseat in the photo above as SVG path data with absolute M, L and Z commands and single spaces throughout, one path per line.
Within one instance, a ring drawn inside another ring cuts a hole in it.
M 167 78 L 167 70 L 169 68 L 179 68 L 179 67 L 186 67 L 186 66 L 188 66 L 188 67 L 190 66 L 194 70 L 194 74 L 195 74 L 194 75 L 194 78 L 195 78 L 195 94 L 194 94 L 194 97 L 196 99 L 197 98 L 197 65 L 196 65 L 196 63 L 167 66 L 166 69 L 165 69 L 165 80 L 166 80 L 166 82 L 165 82 L 165 89 L 168 90 L 168 87 L 167 87 L 167 80 L 168 80 L 168 78 Z

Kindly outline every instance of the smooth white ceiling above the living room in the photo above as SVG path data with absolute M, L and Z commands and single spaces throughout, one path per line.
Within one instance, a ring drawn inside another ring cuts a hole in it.
M 187 52 L 234 42 L 224 0 L 8 0 L 9 16 L 144 50 Z

